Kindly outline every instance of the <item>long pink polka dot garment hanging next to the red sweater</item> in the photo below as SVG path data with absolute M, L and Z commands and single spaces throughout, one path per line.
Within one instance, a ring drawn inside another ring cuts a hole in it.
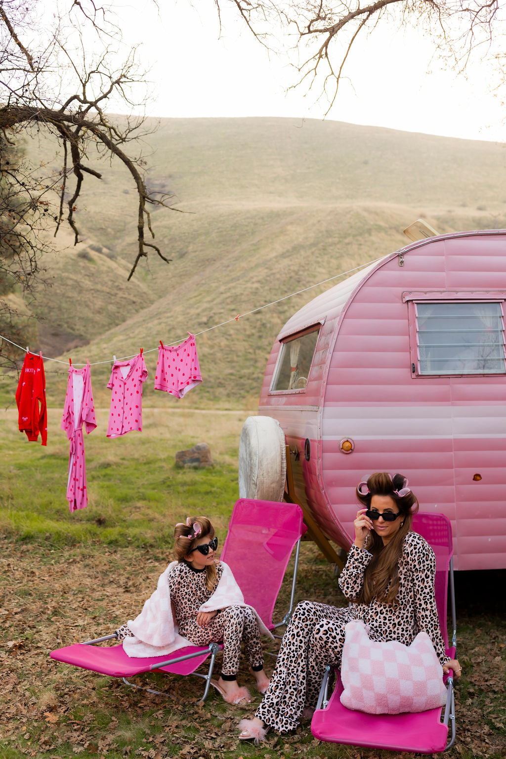
M 61 420 L 61 429 L 65 430 L 71 442 L 67 480 L 67 500 L 71 512 L 88 505 L 83 424 L 88 434 L 96 427 L 90 361 L 83 369 L 68 367 L 67 395 Z

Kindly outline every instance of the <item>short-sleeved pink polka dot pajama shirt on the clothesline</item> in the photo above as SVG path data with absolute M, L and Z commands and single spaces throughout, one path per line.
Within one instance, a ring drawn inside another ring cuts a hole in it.
M 148 370 L 142 354 L 130 361 L 115 361 L 108 388 L 111 392 L 108 437 L 119 437 L 143 429 L 143 383 Z

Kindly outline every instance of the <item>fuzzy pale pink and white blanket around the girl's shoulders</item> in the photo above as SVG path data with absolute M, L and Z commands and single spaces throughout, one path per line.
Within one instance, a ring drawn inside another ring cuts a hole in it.
M 140 615 L 134 621 L 128 620 L 127 625 L 134 635 L 124 638 L 123 649 L 127 656 L 138 658 L 163 657 L 178 648 L 193 646 L 191 641 L 187 641 L 186 638 L 179 635 L 178 625 L 172 613 L 168 575 L 177 563 L 171 562 L 165 572 L 159 576 L 156 591 L 144 603 Z M 226 606 L 247 606 L 231 568 L 225 562 L 221 562 L 221 564 L 223 567 L 222 577 L 209 600 L 200 606 L 200 612 L 212 612 L 217 609 L 225 609 Z M 250 606 L 250 608 L 253 607 Z M 253 609 L 253 611 L 256 614 L 260 633 L 273 638 L 272 633 L 264 625 L 256 610 Z

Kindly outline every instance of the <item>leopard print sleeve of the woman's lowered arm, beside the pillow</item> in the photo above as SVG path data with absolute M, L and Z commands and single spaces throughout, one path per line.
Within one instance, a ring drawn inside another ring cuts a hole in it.
M 425 631 L 434 645 L 438 660 L 445 664 L 445 643 L 439 627 L 438 609 L 435 605 L 435 555 L 429 543 L 416 532 L 410 532 L 404 541 L 404 555 L 410 565 L 413 587 L 416 627 Z

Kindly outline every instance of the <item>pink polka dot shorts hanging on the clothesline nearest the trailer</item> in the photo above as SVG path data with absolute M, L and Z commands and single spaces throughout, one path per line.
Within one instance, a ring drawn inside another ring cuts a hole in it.
M 156 364 L 155 389 L 165 390 L 177 398 L 202 382 L 199 357 L 196 354 L 195 335 L 181 345 L 160 345 Z M 161 341 L 160 341 L 161 342 Z

